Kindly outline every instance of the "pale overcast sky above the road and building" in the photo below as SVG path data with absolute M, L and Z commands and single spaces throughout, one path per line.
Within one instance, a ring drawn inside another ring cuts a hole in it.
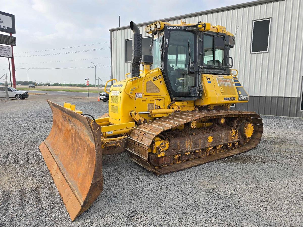
M 145 5 L 148 2 L 150 4 Z M 0 11 L 15 15 L 14 36 L 17 46 L 14 47 L 14 53 L 17 81 L 27 81 L 24 67 L 32 67 L 28 71 L 29 80 L 32 81 L 64 83 L 65 80 L 66 83 L 84 83 L 84 79 L 89 77 L 90 82 L 94 83 L 95 69 L 91 62 L 99 63 L 96 69 L 98 77 L 104 81 L 110 78 L 108 29 L 118 27 L 119 15 L 121 26 L 125 26 L 131 20 L 136 23 L 156 21 L 243 2 L 250 1 L 10 0 L 1 3 Z M 144 11 L 147 8 L 149 11 Z M 84 52 L 65 54 L 76 51 Z M 0 58 L 0 74 L 4 73 L 9 75 L 8 60 Z

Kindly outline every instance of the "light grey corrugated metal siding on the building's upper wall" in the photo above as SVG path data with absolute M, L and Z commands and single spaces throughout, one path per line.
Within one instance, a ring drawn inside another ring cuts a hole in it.
M 251 96 L 299 97 L 303 75 L 303 1 L 284 0 L 244 8 L 184 18 L 187 23 L 198 21 L 222 25 L 236 33 L 236 46 L 231 49 L 239 80 Z M 269 52 L 250 54 L 252 21 L 271 18 Z M 180 20 L 168 21 L 179 24 Z M 140 31 L 143 36 L 147 36 Z M 238 28 L 238 29 L 237 29 Z M 112 31 L 113 78 L 124 79 L 130 71 L 125 63 L 125 39 L 132 31 Z

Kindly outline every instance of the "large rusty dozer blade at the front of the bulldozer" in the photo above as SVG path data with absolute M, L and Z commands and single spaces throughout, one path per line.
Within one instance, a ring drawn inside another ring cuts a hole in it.
M 47 102 L 53 126 L 39 148 L 73 221 L 103 190 L 101 130 L 90 118 Z

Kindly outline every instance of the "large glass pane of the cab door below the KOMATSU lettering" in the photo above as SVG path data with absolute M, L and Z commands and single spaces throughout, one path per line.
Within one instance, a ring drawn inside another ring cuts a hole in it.
M 195 34 L 189 31 L 170 31 L 165 56 L 166 73 L 174 96 L 190 95 L 195 86 L 195 73 L 188 74 L 194 61 Z

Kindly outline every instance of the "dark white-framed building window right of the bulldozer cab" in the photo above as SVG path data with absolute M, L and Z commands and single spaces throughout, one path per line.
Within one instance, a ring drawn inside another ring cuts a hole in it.
M 251 53 L 268 52 L 271 19 L 252 21 Z

